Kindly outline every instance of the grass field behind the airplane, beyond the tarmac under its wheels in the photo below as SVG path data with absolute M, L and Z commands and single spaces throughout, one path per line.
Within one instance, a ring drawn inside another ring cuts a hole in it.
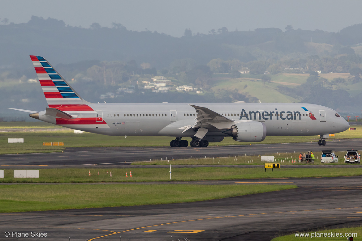
M 10 125 L 9 123 L 13 123 Z M 35 123 L 35 124 L 33 124 Z M 43 122 L 0 122 L 0 129 L 11 128 L 30 129 L 30 132 L 2 132 L 0 133 L 0 154 L 21 154 L 34 152 L 54 152 L 62 151 L 65 147 L 106 147 L 106 146 L 169 146 L 173 137 L 136 137 L 128 136 L 108 136 L 93 133 L 74 134 L 71 129 L 61 129 L 59 131 L 35 131 L 37 128 L 47 129 L 55 125 L 48 125 Z M 55 126 L 56 127 L 56 126 Z M 361 138 L 362 128 L 357 130 L 346 130 L 337 133 L 335 137 L 327 138 L 345 139 Z M 34 129 L 34 132 L 32 131 Z M 8 138 L 24 138 L 24 143 L 8 143 Z M 184 138 L 191 141 L 191 138 Z M 266 136 L 262 142 L 236 142 L 231 137 L 226 137 L 222 142 L 210 143 L 210 146 L 226 145 L 250 145 L 250 144 L 269 144 L 269 143 L 298 143 L 298 142 L 317 142 L 319 136 Z M 64 146 L 43 146 L 43 142 L 64 142 Z M 327 144 L 328 145 L 328 144 Z

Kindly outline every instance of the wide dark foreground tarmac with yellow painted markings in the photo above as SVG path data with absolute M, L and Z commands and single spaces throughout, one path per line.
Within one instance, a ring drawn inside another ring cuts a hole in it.
M 299 188 L 194 203 L 0 214 L 0 237 L 10 241 L 16 237 L 6 238 L 5 232 L 40 232 L 47 237 L 31 240 L 266 241 L 298 231 L 362 225 L 361 181 L 362 177 L 205 181 Z

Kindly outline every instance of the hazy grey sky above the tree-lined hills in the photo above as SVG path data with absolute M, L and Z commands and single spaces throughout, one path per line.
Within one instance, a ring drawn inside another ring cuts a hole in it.
M 362 23 L 361 0 L 0 0 L 0 18 L 28 22 L 32 15 L 63 20 L 88 28 L 97 22 L 128 30 L 151 31 L 180 37 L 186 28 L 207 34 L 277 27 L 337 32 Z

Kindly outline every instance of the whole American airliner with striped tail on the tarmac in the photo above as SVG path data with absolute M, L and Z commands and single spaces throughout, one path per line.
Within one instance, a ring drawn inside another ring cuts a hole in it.
M 90 103 L 41 56 L 30 55 L 48 107 L 30 117 L 104 135 L 176 137 L 171 147 L 207 147 L 232 137 L 261 142 L 266 135 L 319 135 L 343 132 L 348 122 L 331 108 L 305 103 Z

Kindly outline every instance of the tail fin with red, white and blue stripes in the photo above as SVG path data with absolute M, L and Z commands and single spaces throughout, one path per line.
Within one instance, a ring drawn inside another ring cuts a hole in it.
M 48 106 L 51 108 L 90 104 L 41 56 L 30 55 Z

